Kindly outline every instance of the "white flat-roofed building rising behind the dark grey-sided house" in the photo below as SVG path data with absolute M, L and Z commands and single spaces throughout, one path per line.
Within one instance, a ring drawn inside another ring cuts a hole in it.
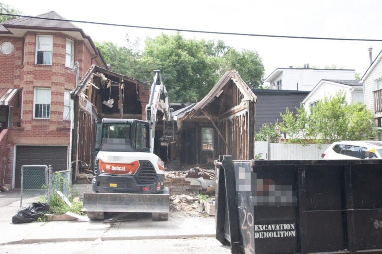
M 354 69 L 277 68 L 266 79 L 270 89 L 311 91 L 321 79 L 354 80 Z

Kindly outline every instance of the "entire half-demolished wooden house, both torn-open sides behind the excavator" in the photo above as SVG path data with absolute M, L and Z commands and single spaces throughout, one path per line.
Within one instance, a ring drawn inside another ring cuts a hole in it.
M 91 173 L 95 122 L 102 118 L 145 120 L 150 85 L 92 66 L 72 92 L 73 178 Z M 254 157 L 256 96 L 236 71 L 227 71 L 198 103 L 174 105 L 171 123 L 158 112 L 154 153 L 170 170 L 212 164 L 219 155 Z

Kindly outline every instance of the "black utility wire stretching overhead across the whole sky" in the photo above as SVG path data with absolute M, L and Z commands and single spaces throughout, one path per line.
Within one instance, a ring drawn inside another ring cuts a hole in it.
M 82 21 L 82 20 L 70 20 L 70 19 L 44 18 L 44 17 L 35 17 L 35 16 L 27 16 L 27 15 L 19 15 L 19 14 L 9 14 L 9 13 L 0 13 L 0 15 L 23 17 L 23 18 L 35 18 L 35 19 L 43 19 L 43 20 L 53 20 L 53 21 L 66 21 L 66 22 L 76 22 L 76 23 L 85 23 L 85 24 L 95 24 L 95 25 L 131 27 L 131 28 L 177 31 L 177 32 L 190 32 L 190 33 L 204 33 L 204 34 L 241 35 L 241 36 L 273 37 L 273 38 L 288 38 L 288 39 L 382 42 L 382 39 L 362 39 L 362 38 L 357 39 L 357 38 L 333 38 L 333 37 L 308 37 L 308 36 L 289 36 L 289 35 L 272 35 L 272 34 L 230 33 L 230 32 L 202 31 L 202 30 L 177 29 L 177 28 L 152 27 L 152 26 L 122 25 L 122 24 L 112 24 L 112 23 L 102 23 L 102 22 Z

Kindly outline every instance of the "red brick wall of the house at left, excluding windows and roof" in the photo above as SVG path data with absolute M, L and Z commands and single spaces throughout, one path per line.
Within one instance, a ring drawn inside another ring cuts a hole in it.
M 13 110 L 13 127 L 6 132 L 7 141 L 4 141 L 6 144 L 0 143 L 0 149 L 4 150 L 1 154 L 7 158 L 8 183 L 12 182 L 14 145 L 69 145 L 70 143 L 70 121 L 63 120 L 63 105 L 64 91 L 73 90 L 76 83 L 75 73 L 65 67 L 66 38 L 73 38 L 48 31 L 44 34 L 53 36 L 52 65 L 35 64 L 36 33 L 28 32 L 23 38 L 0 36 L 0 44 L 9 41 L 14 45 L 14 51 L 10 55 L 0 52 L 0 87 L 20 88 L 20 107 Z M 79 79 L 81 79 L 91 66 L 92 55 L 82 41 L 75 40 L 74 44 L 74 61 L 80 63 Z M 33 118 L 36 87 L 51 89 L 50 119 Z M 21 123 L 21 127 L 16 126 L 17 122 Z M 3 168 L 0 158 L 0 183 L 2 183 Z

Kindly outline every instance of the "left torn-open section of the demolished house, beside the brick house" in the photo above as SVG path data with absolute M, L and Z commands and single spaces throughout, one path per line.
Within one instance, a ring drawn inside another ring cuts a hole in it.
M 95 145 L 95 122 L 102 118 L 145 119 L 150 85 L 92 65 L 72 92 L 73 178 L 91 173 Z

